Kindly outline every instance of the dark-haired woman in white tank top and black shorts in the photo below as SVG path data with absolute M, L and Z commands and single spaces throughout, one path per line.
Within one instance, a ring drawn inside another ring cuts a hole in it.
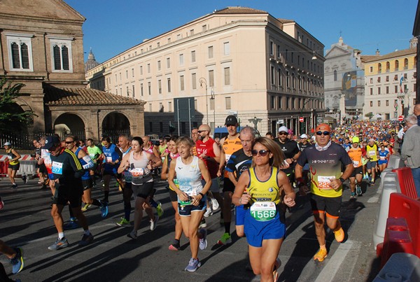
M 144 146 L 143 139 L 136 136 L 132 139 L 132 150 L 127 153 L 118 167 L 118 173 L 123 173 L 126 169 L 130 170 L 132 176 L 132 190 L 136 197 L 136 205 L 134 208 L 134 229 L 127 234 L 131 239 L 137 239 L 137 231 L 140 228 L 141 218 L 143 217 L 143 209 L 151 218 L 151 227 L 153 231 L 158 223 L 159 216 L 155 216 L 147 198 L 153 190 L 152 169 L 162 164 L 160 157 L 142 150 Z M 127 180 L 126 180 L 127 181 Z

